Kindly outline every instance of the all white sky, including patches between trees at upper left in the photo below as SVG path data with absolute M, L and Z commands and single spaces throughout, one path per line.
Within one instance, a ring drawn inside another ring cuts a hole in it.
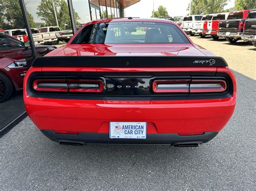
M 37 17 L 37 6 L 41 0 L 25 0 L 27 10 L 32 14 L 35 22 L 41 23 L 42 20 Z M 167 8 L 169 15 L 174 16 L 184 16 L 187 15 L 187 6 L 190 3 L 190 0 L 140 0 L 140 2 L 131 5 L 125 9 L 125 16 L 129 17 L 151 17 L 153 10 L 153 1 L 154 9 L 157 10 L 158 6 L 163 5 Z M 235 0 L 229 0 L 228 5 L 225 9 L 234 7 Z M 89 22 L 90 13 L 87 0 L 73 0 L 73 8 L 78 12 L 79 21 L 81 23 Z

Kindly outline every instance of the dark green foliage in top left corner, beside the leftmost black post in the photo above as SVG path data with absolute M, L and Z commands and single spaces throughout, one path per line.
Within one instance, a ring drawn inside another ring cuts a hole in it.
M 35 27 L 32 15 L 27 12 L 31 27 Z M 0 29 L 24 29 L 21 5 L 17 0 L 0 0 Z

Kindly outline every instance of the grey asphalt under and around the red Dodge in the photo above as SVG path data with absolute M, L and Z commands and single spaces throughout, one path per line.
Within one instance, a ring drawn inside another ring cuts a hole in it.
M 253 190 L 256 84 L 234 73 L 234 115 L 217 137 L 199 147 L 59 145 L 27 117 L 0 139 L 0 188 Z

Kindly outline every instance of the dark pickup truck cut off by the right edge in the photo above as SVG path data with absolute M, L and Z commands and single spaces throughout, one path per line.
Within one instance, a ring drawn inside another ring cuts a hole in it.
M 256 46 L 256 9 L 252 9 L 245 20 L 242 39 L 252 41 L 253 46 Z

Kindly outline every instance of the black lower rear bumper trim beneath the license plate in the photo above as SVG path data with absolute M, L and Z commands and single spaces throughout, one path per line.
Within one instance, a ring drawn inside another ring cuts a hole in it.
M 136 145 L 193 145 L 203 144 L 213 139 L 218 132 L 205 132 L 203 135 L 179 136 L 177 133 L 151 133 L 146 139 L 110 139 L 109 133 L 84 133 L 78 135 L 60 134 L 51 130 L 42 130 L 49 139 L 65 144 L 136 144 Z

